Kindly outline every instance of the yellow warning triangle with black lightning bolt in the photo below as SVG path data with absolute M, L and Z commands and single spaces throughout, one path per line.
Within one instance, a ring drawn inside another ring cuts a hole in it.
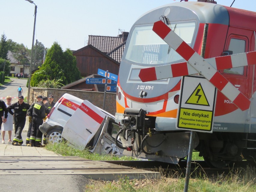
M 189 96 L 185 104 L 210 106 L 201 83 L 197 85 L 196 89 Z

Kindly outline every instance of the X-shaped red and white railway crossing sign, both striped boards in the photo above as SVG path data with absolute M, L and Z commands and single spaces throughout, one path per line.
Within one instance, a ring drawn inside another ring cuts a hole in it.
M 193 50 L 186 42 L 184 42 L 178 35 L 176 35 L 175 32 L 173 32 L 162 21 L 157 21 L 154 23 L 153 31 L 157 35 L 159 35 L 160 38 L 162 38 L 167 44 L 169 44 L 170 47 L 172 47 L 178 54 L 180 54 L 187 61 L 187 63 L 186 62 L 183 62 L 181 64 L 177 63 L 178 65 L 182 66 L 185 73 L 187 74 L 200 73 L 242 111 L 250 107 L 251 101 L 247 97 L 245 97 L 239 90 L 237 90 L 236 87 L 234 87 L 224 76 L 222 76 L 217 71 L 219 70 L 218 69 L 219 65 L 217 63 L 219 63 L 220 60 L 222 60 L 223 58 L 225 59 L 225 61 L 228 60 L 229 62 L 227 62 L 227 65 L 225 66 L 226 69 L 230 68 L 227 66 L 237 67 L 238 65 L 239 66 L 252 65 L 252 64 L 255 64 L 255 58 L 256 58 L 255 51 L 250 53 L 241 53 L 237 55 L 232 55 L 235 57 L 223 56 L 223 57 L 216 57 L 218 59 L 211 58 L 206 60 L 203 57 L 201 57 L 195 50 Z M 238 62 L 236 62 L 235 58 L 238 60 Z M 212 59 L 214 59 L 216 62 L 217 70 L 208 62 L 208 60 L 212 60 Z M 194 68 L 194 71 L 192 70 L 193 71 L 192 73 L 191 73 L 191 67 L 188 67 L 188 66 L 192 66 L 192 68 Z M 161 67 L 166 68 L 168 66 L 161 66 Z M 142 73 L 149 72 L 149 70 L 152 72 L 154 69 L 156 69 L 156 67 L 150 68 L 148 69 L 148 71 L 146 71 L 146 69 L 144 69 L 145 71 L 141 69 L 139 77 L 141 78 L 141 76 L 143 76 L 141 75 Z M 165 72 L 164 73 L 165 77 L 160 77 L 160 79 L 172 78 L 173 77 L 172 75 L 175 74 L 175 72 L 177 71 L 171 70 L 169 77 L 166 76 L 167 72 Z M 178 73 L 179 76 L 181 76 L 180 74 L 181 72 Z M 156 70 L 155 70 L 155 76 L 154 75 L 152 76 L 154 78 L 157 78 Z

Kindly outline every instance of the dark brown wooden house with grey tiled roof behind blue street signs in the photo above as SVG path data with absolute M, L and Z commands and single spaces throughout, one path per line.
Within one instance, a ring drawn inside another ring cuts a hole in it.
M 118 75 L 128 34 L 129 32 L 122 32 L 117 37 L 89 35 L 88 45 L 73 51 L 81 76 L 90 77 L 93 74 L 95 76 L 98 69 Z M 99 85 L 98 87 L 97 85 L 87 85 L 85 81 L 86 78 L 83 78 L 62 88 L 102 91 L 98 89 Z

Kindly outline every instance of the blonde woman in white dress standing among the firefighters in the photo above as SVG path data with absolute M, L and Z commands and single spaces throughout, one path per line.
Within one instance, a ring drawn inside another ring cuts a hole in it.
M 7 102 L 5 103 L 6 107 L 9 107 L 9 105 L 11 105 L 11 96 L 7 96 L 6 97 Z M 4 119 L 5 117 L 3 116 L 2 119 Z M 5 131 L 8 131 L 8 135 L 9 135 L 9 140 L 8 143 L 11 144 L 11 131 L 13 130 L 13 116 L 8 113 L 8 118 L 7 121 L 5 123 L 3 123 L 3 131 L 2 131 L 2 143 L 5 143 Z

